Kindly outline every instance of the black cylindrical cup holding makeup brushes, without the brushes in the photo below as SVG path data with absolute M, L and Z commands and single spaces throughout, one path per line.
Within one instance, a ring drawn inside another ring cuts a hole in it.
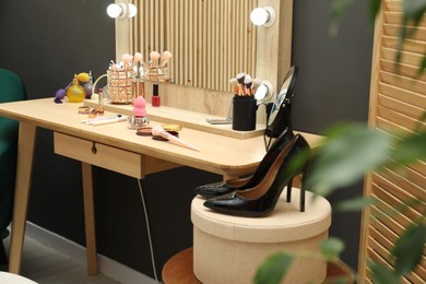
M 233 129 L 250 131 L 256 129 L 256 99 L 255 96 L 234 96 L 233 99 Z

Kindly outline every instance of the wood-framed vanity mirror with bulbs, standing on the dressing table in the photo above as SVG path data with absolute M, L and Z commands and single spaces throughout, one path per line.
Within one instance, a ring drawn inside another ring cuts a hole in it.
M 293 0 L 131 2 L 138 15 L 116 20 L 116 54 L 140 51 L 144 60 L 153 50 L 173 54 L 173 84 L 161 85 L 166 94 L 164 105 L 226 116 L 232 100 L 230 78 L 250 73 L 276 90 L 289 68 Z M 274 23 L 268 27 L 252 25 L 251 11 L 265 5 L 275 11 Z M 258 121 L 264 118 L 258 117 Z

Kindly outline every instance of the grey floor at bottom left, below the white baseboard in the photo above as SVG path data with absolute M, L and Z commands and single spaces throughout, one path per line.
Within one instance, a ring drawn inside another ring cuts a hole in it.
M 3 239 L 4 248 L 9 251 L 10 237 Z M 25 257 L 22 262 L 22 276 L 39 284 L 118 284 L 103 274 L 88 276 L 86 267 L 75 260 L 59 253 L 28 237 L 25 237 Z M 0 267 L 7 271 L 7 267 Z

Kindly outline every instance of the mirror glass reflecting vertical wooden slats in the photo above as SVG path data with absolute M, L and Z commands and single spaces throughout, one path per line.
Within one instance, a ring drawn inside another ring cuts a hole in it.
M 257 0 L 133 2 L 140 9 L 133 50 L 142 52 L 144 61 L 151 51 L 169 50 L 176 84 L 230 92 L 230 78 L 255 74 L 256 33 L 248 15 Z

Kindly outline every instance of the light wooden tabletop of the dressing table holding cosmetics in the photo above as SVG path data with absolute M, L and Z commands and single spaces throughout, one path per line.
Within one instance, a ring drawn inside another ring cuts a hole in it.
M 52 98 L 3 103 L 0 104 L 0 116 L 221 175 L 238 176 L 253 171 L 265 154 L 262 137 L 240 140 L 184 128 L 179 138 L 199 147 L 200 152 L 197 152 L 155 141 L 151 137 L 137 135 L 135 130 L 127 128 L 127 122 L 83 125 L 81 120 L 86 119 L 87 115 L 78 113 L 82 105 L 68 102 L 55 104 Z M 104 115 L 115 114 L 105 111 Z M 161 123 L 150 122 L 151 127 Z M 301 134 L 311 145 L 320 140 L 319 135 Z

